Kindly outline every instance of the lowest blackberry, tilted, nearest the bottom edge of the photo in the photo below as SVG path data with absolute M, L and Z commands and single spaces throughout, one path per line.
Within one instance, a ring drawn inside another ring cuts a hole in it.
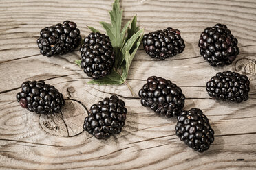
M 203 152 L 209 149 L 214 141 L 214 131 L 202 110 L 183 110 L 177 118 L 176 135 L 181 141 L 195 151 Z

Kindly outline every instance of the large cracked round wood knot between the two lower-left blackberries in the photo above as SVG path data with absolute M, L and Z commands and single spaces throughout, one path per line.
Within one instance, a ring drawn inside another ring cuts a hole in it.
M 83 132 L 83 121 L 87 115 L 87 109 L 81 102 L 69 99 L 65 101 L 61 112 L 41 114 L 39 124 L 47 133 L 72 137 Z

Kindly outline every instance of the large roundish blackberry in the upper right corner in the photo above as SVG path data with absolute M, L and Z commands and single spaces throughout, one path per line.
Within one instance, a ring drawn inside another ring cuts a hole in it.
M 237 38 L 231 30 L 220 23 L 214 27 L 207 27 L 200 35 L 198 42 L 200 55 L 211 66 L 225 66 L 231 64 L 239 54 Z

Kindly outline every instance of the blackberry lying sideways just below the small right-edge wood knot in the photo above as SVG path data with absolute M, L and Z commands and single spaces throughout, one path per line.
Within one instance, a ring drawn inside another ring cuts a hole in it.
M 206 83 L 206 91 L 217 100 L 240 103 L 248 100 L 250 81 L 246 75 L 231 71 L 219 72 Z

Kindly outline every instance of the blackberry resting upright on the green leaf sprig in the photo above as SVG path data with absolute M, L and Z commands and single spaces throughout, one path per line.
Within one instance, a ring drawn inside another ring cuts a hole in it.
M 115 53 L 108 36 L 92 32 L 85 37 L 80 51 L 81 67 L 89 77 L 97 79 L 111 72 Z

